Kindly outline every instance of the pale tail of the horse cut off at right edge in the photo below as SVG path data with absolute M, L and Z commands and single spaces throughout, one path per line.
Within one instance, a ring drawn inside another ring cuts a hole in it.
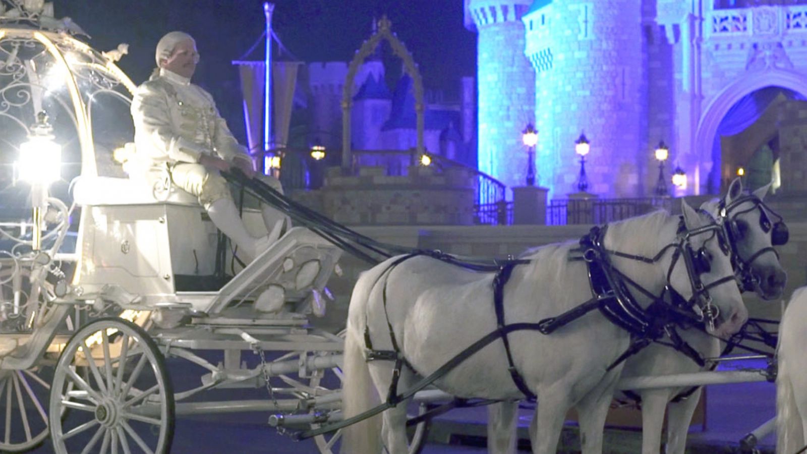
M 801 339 L 805 333 L 798 330 L 798 325 L 807 311 L 807 288 L 797 289 L 793 293 L 782 316 L 779 329 L 779 345 L 776 346 L 777 366 L 776 374 L 776 452 L 778 454 L 792 454 L 805 445 L 804 425 L 797 405 L 796 389 L 793 385 L 794 374 L 798 374 L 798 358 L 801 351 L 793 350 L 794 346 L 803 345 Z M 804 307 L 802 307 L 804 306 Z M 796 313 L 796 312 L 799 313 Z M 792 319 L 796 320 L 792 320 Z M 794 364 L 792 361 L 796 359 Z M 803 371 L 802 371 L 803 372 Z

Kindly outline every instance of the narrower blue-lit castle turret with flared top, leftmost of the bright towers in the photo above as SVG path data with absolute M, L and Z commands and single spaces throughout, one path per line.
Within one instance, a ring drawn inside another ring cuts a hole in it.
M 465 3 L 466 18 L 470 19 L 466 26 L 475 26 L 479 32 L 479 170 L 508 187 L 524 186 L 527 153 L 521 144 L 521 130 L 534 118 L 535 75 L 524 53 L 521 16 L 531 0 Z

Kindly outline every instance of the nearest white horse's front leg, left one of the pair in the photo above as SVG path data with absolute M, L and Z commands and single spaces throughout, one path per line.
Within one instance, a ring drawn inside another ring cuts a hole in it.
M 555 454 L 563 430 L 567 411 L 571 407 L 570 393 L 566 388 L 550 387 L 538 392 L 538 406 L 529 425 L 529 441 L 533 454 Z

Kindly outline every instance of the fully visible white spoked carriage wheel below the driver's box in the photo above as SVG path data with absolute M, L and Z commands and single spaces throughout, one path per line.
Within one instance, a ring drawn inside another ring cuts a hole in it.
M 54 417 L 65 409 L 71 411 L 64 421 Z M 59 454 L 169 452 L 174 390 L 157 344 L 119 318 L 82 327 L 56 365 L 50 414 Z

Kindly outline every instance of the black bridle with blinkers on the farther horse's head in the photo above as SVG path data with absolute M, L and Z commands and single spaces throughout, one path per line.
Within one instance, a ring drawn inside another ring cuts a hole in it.
M 740 205 L 746 202 L 751 202 L 751 208 L 737 211 Z M 759 227 L 764 233 L 771 233 L 771 246 L 762 247 L 756 250 L 750 257 L 742 258 L 738 251 L 738 242 L 742 242 L 746 233 L 740 228 L 738 217 L 759 209 Z M 775 222 L 771 222 L 771 217 L 776 217 Z M 717 223 L 722 226 L 725 238 L 728 244 L 725 247 L 730 249 L 731 252 L 731 265 L 734 268 L 735 274 L 738 276 L 740 282 L 740 289 L 742 291 L 754 291 L 756 285 L 759 284 L 759 277 L 753 273 L 751 266 L 759 256 L 772 252 L 779 259 L 779 253 L 772 246 L 782 246 L 788 242 L 789 233 L 788 226 L 784 224 L 784 218 L 779 213 L 773 211 L 767 204 L 759 199 L 756 195 L 744 195 L 732 200 L 730 204 L 725 203 L 725 199 L 721 200 L 717 205 Z M 721 245 L 721 248 L 724 247 Z

